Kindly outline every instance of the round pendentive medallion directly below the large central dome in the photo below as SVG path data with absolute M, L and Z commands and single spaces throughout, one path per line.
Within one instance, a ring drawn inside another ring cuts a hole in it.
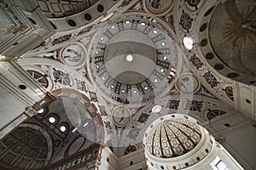
M 131 119 L 131 111 L 126 107 L 120 106 L 113 109 L 113 122 L 119 126 L 125 126 Z

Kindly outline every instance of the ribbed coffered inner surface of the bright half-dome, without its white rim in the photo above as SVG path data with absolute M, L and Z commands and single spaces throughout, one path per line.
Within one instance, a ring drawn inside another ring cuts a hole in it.
M 146 150 L 161 158 L 177 157 L 193 150 L 200 140 L 201 130 L 196 122 L 173 118 L 152 127 L 146 139 Z

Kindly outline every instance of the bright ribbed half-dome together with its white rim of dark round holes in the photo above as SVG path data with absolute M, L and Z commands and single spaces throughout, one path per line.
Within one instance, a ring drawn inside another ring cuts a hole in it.
M 194 118 L 172 114 L 149 125 L 143 147 L 149 169 L 183 169 L 210 153 L 212 139 Z

